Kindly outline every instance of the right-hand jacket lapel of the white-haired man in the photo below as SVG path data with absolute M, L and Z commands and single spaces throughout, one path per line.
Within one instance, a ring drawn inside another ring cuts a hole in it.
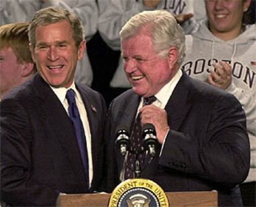
M 189 77 L 183 74 L 166 104 L 165 109 L 168 112 L 168 124 L 171 125 L 171 129 L 173 130 L 179 130 L 189 111 L 190 84 Z

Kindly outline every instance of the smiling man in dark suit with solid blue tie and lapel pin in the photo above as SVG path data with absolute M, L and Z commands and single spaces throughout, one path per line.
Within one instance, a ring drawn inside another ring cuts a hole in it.
M 60 193 L 100 187 L 105 101 L 74 82 L 84 36 L 66 10 L 42 9 L 30 22 L 38 74 L 1 101 L 1 200 L 9 205 L 54 206 Z

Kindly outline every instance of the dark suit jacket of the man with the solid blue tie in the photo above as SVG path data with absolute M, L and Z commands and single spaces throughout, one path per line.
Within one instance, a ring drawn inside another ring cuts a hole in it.
M 93 180 L 102 177 L 106 106 L 88 87 L 82 95 L 92 134 Z M 59 192 L 87 193 L 74 128 L 49 85 L 36 74 L 1 102 L 1 199 L 10 205 L 55 205 Z

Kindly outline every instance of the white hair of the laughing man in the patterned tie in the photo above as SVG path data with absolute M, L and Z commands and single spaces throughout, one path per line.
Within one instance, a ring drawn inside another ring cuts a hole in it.
M 166 56 L 170 46 L 179 51 L 177 63 L 181 65 L 185 57 L 185 35 L 174 15 L 168 11 L 143 11 L 134 15 L 120 31 L 121 41 L 137 35 L 141 30 L 152 38 L 156 53 Z

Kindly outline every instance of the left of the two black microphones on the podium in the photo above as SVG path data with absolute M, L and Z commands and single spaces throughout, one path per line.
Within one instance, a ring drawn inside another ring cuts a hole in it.
M 130 132 L 127 127 L 118 125 L 116 127 L 116 145 L 119 148 L 122 156 L 125 156 L 127 151 L 130 150 Z

